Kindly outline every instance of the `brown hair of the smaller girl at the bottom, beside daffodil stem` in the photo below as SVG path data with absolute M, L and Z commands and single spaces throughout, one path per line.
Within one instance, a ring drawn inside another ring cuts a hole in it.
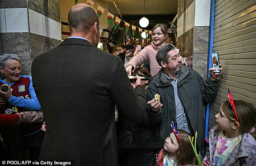
M 186 165 L 186 164 L 193 164 L 195 162 L 195 153 L 189 141 L 189 136 L 191 135 L 184 130 L 178 129 L 180 132 L 180 143 L 178 149 L 178 155 L 175 159 L 175 162 L 178 165 Z M 160 151 L 161 153 L 161 151 Z M 159 159 L 159 162 L 164 161 L 164 156 L 168 155 L 168 151 L 164 149 L 162 158 Z

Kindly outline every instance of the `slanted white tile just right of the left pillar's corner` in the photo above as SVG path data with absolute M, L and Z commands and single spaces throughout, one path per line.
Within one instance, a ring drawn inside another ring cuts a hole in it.
M 43 15 L 28 9 L 29 14 L 29 31 L 30 33 L 36 33 L 38 35 L 44 35 L 43 28 Z

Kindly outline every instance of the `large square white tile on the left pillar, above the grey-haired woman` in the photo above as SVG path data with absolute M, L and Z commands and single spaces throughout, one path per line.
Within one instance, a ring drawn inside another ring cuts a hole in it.
M 5 9 L 6 32 L 28 32 L 27 8 Z

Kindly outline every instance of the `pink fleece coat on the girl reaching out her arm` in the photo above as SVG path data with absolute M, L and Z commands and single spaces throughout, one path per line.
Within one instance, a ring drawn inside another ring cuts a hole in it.
M 162 68 L 161 66 L 159 66 L 159 64 L 157 63 L 155 56 L 157 51 L 165 46 L 166 43 L 163 43 L 159 46 L 155 46 L 155 44 L 153 42 L 151 42 L 151 45 L 145 47 L 143 50 L 141 50 L 140 53 L 138 53 L 138 55 L 134 56 L 130 62 L 127 64 L 128 65 L 132 65 L 132 72 L 135 70 L 136 66 L 139 66 L 141 64 L 143 64 L 143 62 L 148 62 L 149 66 L 150 66 L 150 73 L 152 76 L 156 75 L 158 73 L 158 71 Z

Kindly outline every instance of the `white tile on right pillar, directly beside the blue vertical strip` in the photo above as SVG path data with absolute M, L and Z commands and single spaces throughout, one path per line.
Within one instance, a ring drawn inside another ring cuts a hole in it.
M 195 26 L 210 25 L 211 0 L 195 0 Z

